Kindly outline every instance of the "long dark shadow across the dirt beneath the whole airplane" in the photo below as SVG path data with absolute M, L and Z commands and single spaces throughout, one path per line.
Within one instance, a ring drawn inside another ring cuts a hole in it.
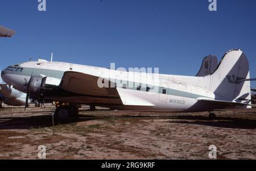
M 129 116 L 126 116 L 126 117 L 129 118 Z M 68 118 L 61 121 L 55 120 L 55 125 L 79 123 L 79 122 L 84 122 L 88 120 L 96 120 L 96 119 L 104 119 L 104 118 L 110 119 L 110 117 L 108 116 L 98 118 L 97 116 L 79 115 L 79 118 Z M 137 118 L 137 116 L 133 116 L 132 118 Z M 143 118 L 143 116 L 138 116 L 138 118 Z M 145 118 L 148 118 L 148 117 L 145 116 Z M 217 117 L 215 120 L 210 120 L 208 116 L 188 116 L 188 115 L 168 116 L 168 117 L 163 117 L 163 119 L 164 118 L 180 119 L 180 120 L 171 120 L 171 121 L 168 121 L 167 123 L 197 124 L 201 126 L 240 128 L 240 129 L 247 129 L 247 130 L 252 130 L 256 128 L 256 120 L 242 119 L 242 118 Z M 31 129 L 31 128 L 45 128 L 45 127 L 51 127 L 51 126 L 52 126 L 51 115 L 0 118 L 0 130 L 22 130 L 22 129 Z

